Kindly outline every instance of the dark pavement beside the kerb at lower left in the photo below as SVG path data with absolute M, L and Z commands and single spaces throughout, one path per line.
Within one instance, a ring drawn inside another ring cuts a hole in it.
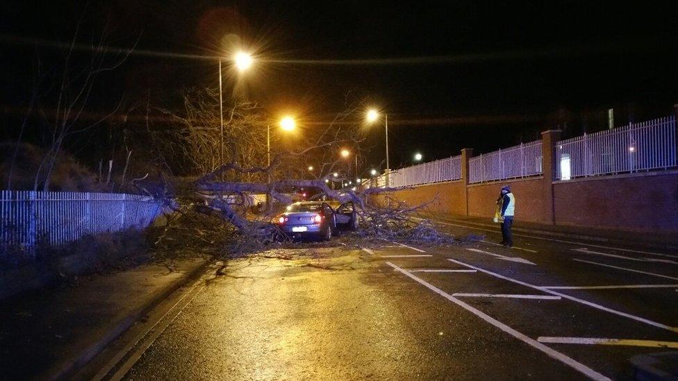
M 144 264 L 2 300 L 0 380 L 69 378 L 205 265 Z

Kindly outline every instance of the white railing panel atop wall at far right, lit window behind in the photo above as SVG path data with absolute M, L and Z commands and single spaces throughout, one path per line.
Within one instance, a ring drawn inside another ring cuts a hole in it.
M 556 160 L 557 180 L 675 167 L 675 117 L 561 140 Z

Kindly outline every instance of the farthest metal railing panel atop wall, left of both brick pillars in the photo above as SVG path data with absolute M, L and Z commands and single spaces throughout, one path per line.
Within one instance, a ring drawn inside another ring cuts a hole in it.
M 461 155 L 435 160 L 392 171 L 390 187 L 440 183 L 461 178 Z

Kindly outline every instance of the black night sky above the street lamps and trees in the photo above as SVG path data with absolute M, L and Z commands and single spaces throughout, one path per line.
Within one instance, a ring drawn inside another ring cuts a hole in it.
M 4 1 L 0 10 L 3 139 L 16 120 L 8 110 L 28 98 L 35 52 L 49 58 L 56 50 L 43 42 L 68 41 L 83 14 L 85 41 L 107 26 L 112 46 L 164 53 L 132 56 L 103 78 L 94 103 L 124 93 L 176 107 L 182 88 L 217 85 L 217 63 L 167 53 L 219 56 L 237 38 L 275 61 L 258 63 L 246 83 L 272 114 L 322 123 L 346 99 L 388 112 L 392 167 L 415 151 L 433 160 L 529 142 L 563 121 L 565 135 L 579 135 L 604 128 L 612 107 L 618 124 L 665 116 L 678 101 L 675 6 L 113 0 Z M 381 134 L 370 133 L 365 164 L 383 160 Z

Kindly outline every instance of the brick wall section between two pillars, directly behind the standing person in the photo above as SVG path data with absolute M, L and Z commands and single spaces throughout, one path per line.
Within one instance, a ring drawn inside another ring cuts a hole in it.
M 511 192 L 515 196 L 516 220 L 530 222 L 549 221 L 548 216 L 545 214 L 545 195 L 542 178 L 469 185 L 468 215 L 487 217 L 488 219 L 493 218 L 495 216 L 495 202 L 499 197 L 502 187 L 506 184 L 511 185 Z

